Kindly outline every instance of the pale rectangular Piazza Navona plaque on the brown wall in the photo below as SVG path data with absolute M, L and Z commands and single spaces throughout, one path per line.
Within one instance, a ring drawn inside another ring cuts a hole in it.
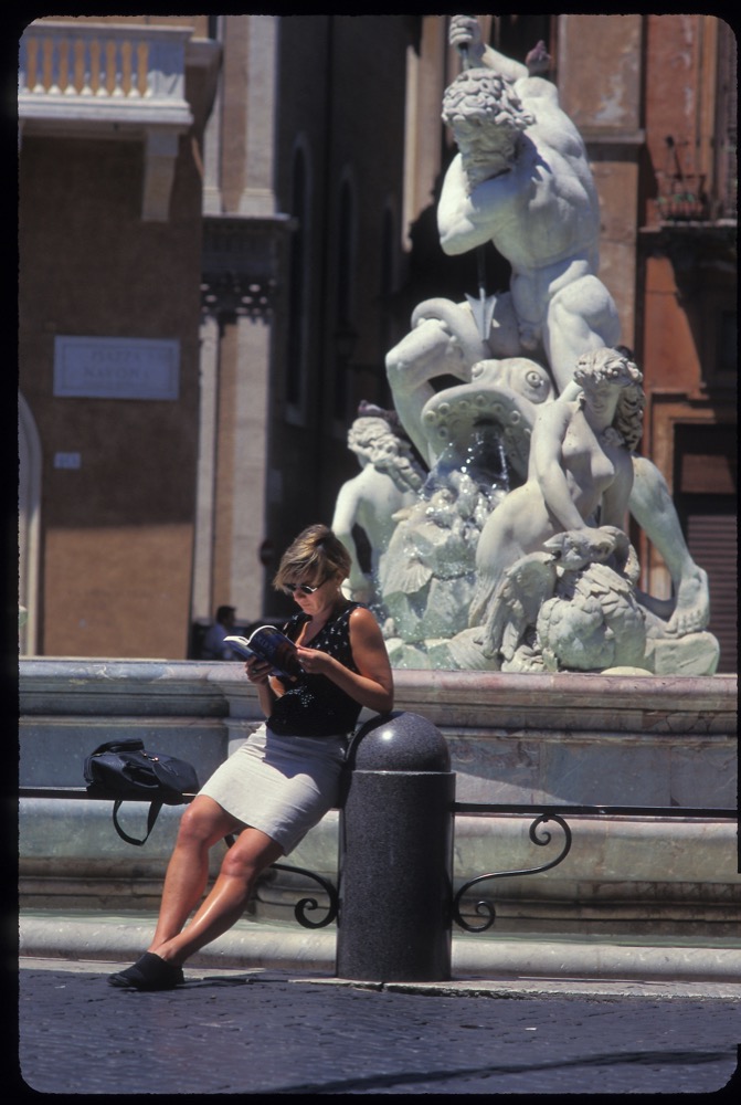
M 180 343 L 150 338 L 54 338 L 54 394 L 177 399 Z

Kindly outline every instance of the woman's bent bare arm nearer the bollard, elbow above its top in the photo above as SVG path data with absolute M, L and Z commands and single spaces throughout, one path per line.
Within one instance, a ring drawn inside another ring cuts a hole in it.
M 326 652 L 298 645 L 301 667 L 309 675 L 326 675 L 361 706 L 385 714 L 393 707 L 393 675 L 381 628 L 363 607 L 352 611 L 349 628 L 357 673 Z

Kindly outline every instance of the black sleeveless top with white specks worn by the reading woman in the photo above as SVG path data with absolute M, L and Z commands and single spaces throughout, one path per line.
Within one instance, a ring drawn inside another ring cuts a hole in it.
M 350 614 L 361 606 L 348 602 L 338 614 L 322 625 L 308 642 L 307 649 L 327 652 L 351 672 L 358 669 L 350 648 Z M 286 623 L 283 632 L 295 641 L 308 614 L 297 613 Z M 285 694 L 276 699 L 267 727 L 280 736 L 329 737 L 351 733 L 361 711 L 360 703 L 341 691 L 326 675 L 300 675 L 296 681 L 282 681 Z

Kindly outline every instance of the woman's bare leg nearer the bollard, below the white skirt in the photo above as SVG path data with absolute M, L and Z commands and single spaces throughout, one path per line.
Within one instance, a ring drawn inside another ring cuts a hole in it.
M 224 856 L 216 882 L 190 924 L 159 944 L 152 940 L 149 950 L 167 962 L 181 966 L 193 953 L 215 940 L 240 919 L 255 880 L 282 855 L 283 848 L 271 836 L 258 829 L 244 829 Z M 173 874 L 173 882 L 176 875 L 177 873 Z M 181 890 L 181 907 L 184 906 L 184 899 L 186 894 Z M 174 924 L 178 916 L 179 913 L 173 909 L 171 924 Z M 165 930 L 166 927 L 162 926 L 162 932 Z

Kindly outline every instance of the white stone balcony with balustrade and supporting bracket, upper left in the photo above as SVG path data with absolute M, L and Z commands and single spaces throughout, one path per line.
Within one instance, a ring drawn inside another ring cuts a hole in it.
M 36 21 L 20 43 L 19 135 L 145 143 L 142 219 L 167 220 L 190 29 Z

